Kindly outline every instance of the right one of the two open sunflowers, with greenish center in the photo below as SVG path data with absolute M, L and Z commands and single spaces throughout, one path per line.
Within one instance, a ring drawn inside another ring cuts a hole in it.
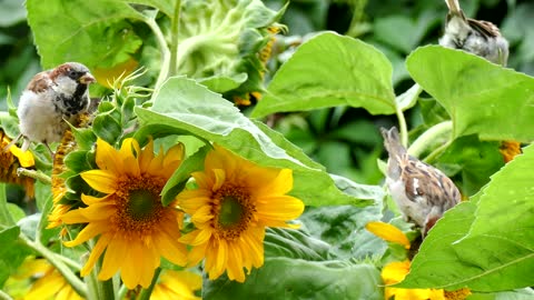
M 192 246 L 189 263 L 206 258 L 209 279 L 227 271 L 230 280 L 245 281 L 244 268 L 264 264 L 266 227 L 289 227 L 304 210 L 293 189 L 289 169 L 263 168 L 215 146 L 202 172 L 192 173 L 197 189 L 178 196 L 180 208 L 197 228 L 180 240 Z

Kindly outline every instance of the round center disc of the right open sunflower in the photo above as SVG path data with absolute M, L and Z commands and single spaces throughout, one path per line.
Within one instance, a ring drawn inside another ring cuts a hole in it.
M 256 207 L 240 187 L 222 186 L 215 194 L 214 228 L 225 240 L 238 239 L 253 221 Z

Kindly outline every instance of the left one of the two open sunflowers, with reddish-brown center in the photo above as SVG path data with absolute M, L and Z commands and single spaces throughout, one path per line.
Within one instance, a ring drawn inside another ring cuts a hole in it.
M 184 158 L 181 143 L 154 156 L 150 141 L 141 150 L 134 139 L 126 139 L 120 150 L 97 141 L 98 170 L 81 178 L 101 198 L 82 194 L 87 208 L 71 210 L 61 217 L 63 223 L 87 223 L 78 237 L 65 244 L 78 246 L 99 237 L 81 276 L 87 276 L 98 258 L 103 257 L 99 280 L 111 278 L 118 270 L 126 287 L 148 288 L 160 257 L 184 266 L 186 248 L 178 239 L 184 214 L 175 203 L 161 204 L 161 190 Z

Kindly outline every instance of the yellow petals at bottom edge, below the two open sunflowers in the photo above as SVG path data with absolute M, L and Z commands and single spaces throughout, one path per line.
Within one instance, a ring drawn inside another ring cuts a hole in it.
M 166 270 L 154 287 L 150 300 L 201 300 L 195 291 L 202 288 L 202 277 L 189 271 Z

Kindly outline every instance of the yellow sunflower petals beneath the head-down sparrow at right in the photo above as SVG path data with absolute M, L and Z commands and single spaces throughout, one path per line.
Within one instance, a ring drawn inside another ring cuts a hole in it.
M 384 222 L 368 222 L 365 228 L 378 238 L 411 248 L 409 240 L 398 228 Z M 382 269 L 382 280 L 386 284 L 384 297 L 386 300 L 463 300 L 471 294 L 468 289 L 445 291 L 443 289 L 400 289 L 389 287 L 404 280 L 409 272 L 409 260 L 393 261 Z

